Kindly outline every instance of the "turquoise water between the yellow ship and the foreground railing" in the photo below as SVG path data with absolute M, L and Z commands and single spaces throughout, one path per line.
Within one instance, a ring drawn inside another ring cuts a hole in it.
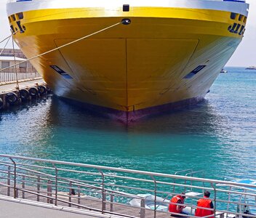
M 199 105 L 111 121 L 48 97 L 0 113 L 0 153 L 204 177 L 256 177 L 256 70 L 227 68 Z

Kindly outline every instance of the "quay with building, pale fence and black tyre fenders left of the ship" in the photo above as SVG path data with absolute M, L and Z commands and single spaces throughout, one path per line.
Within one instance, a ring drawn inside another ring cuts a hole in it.
M 49 93 L 47 84 L 20 49 L 0 51 L 0 110 Z

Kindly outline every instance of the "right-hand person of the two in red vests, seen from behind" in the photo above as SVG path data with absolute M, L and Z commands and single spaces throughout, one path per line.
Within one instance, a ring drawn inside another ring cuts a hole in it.
M 209 193 L 209 191 L 205 191 L 204 198 L 201 198 L 201 199 L 199 199 L 199 201 L 197 201 L 197 206 L 213 209 L 213 203 L 211 200 L 209 200 L 209 195 L 211 195 L 211 193 Z M 214 211 L 196 208 L 196 213 L 195 213 L 196 217 L 205 217 L 205 216 L 209 216 L 211 214 L 214 214 Z M 214 218 L 214 216 L 212 216 L 210 218 Z

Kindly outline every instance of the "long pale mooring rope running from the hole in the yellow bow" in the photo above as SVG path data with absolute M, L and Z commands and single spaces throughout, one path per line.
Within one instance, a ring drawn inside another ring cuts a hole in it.
M 108 27 L 106 27 L 106 28 L 101 29 L 100 31 L 96 31 L 95 33 L 91 33 L 91 34 L 89 34 L 89 35 L 87 35 L 87 36 L 83 36 L 83 37 L 81 37 L 81 38 L 79 38 L 79 39 L 76 39 L 76 40 L 74 40 L 74 41 L 71 41 L 71 42 L 69 42 L 69 43 L 67 43 L 67 44 L 63 44 L 62 46 L 57 47 L 57 48 L 55 48 L 55 49 L 51 49 L 51 50 L 49 50 L 48 52 L 44 52 L 44 53 L 41 53 L 40 55 L 36 55 L 36 56 L 34 56 L 34 57 L 28 58 L 28 60 L 24 60 L 24 61 L 22 61 L 22 62 L 18 62 L 17 64 L 11 65 L 11 66 L 9 66 L 8 68 L 3 68 L 3 69 L 0 70 L 0 72 L 1 72 L 1 71 L 4 71 L 4 70 L 7 70 L 7 69 L 9 69 L 9 68 L 13 68 L 13 67 L 15 67 L 16 65 L 20 65 L 20 64 L 23 63 L 23 62 L 28 62 L 28 61 L 30 61 L 30 60 L 36 59 L 37 57 L 41 57 L 41 56 L 43 56 L 43 55 L 47 55 L 47 54 L 49 54 L 50 52 L 55 52 L 55 51 L 58 50 L 58 49 L 62 49 L 63 47 L 67 47 L 67 46 L 69 46 L 69 45 L 71 45 L 71 44 L 74 44 L 74 43 L 76 43 L 76 42 L 78 42 L 78 41 L 81 41 L 81 40 L 83 40 L 83 39 L 87 39 L 87 38 L 90 37 L 90 36 L 93 36 L 93 35 L 95 35 L 95 34 L 97 34 L 97 33 L 101 33 L 101 32 L 103 32 L 103 31 L 106 31 L 106 30 L 108 30 L 108 29 L 110 29 L 110 28 L 113 28 L 113 27 L 116 26 L 116 25 L 119 25 L 119 24 L 121 24 L 121 22 L 116 23 L 116 24 L 113 24 L 113 25 L 110 25 L 110 26 L 108 26 Z

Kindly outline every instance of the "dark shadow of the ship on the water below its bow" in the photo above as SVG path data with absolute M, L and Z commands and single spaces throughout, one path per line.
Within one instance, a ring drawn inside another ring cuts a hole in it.
M 128 125 L 98 113 L 52 98 L 47 121 L 54 126 L 97 129 L 111 132 L 193 134 L 215 131 L 223 118 L 215 113 L 207 100 L 183 110 L 148 116 Z

